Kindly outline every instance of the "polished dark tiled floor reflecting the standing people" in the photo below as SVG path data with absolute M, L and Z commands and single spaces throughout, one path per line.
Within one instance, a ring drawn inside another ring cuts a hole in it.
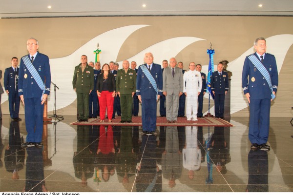
M 21 148 L 22 121 L 4 115 L 0 192 L 293 192 L 291 117 L 271 118 L 271 151 L 251 151 L 248 118 L 233 127 L 44 125 L 41 149 Z

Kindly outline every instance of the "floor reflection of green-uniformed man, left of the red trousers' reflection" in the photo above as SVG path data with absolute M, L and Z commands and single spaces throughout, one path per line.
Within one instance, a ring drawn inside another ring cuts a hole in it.
M 87 125 L 77 126 L 77 152 L 74 152 L 73 156 L 74 174 L 82 180 L 83 187 L 87 185 L 87 178 L 94 174 L 94 158 L 88 147 L 90 127 Z

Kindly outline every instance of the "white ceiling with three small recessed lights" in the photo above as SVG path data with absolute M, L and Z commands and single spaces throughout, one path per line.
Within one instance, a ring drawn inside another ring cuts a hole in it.
M 152 15 L 293 16 L 293 0 L 0 0 L 0 18 Z

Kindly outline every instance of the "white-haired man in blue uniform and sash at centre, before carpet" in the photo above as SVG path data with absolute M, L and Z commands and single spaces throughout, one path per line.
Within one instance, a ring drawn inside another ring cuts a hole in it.
M 156 135 L 157 100 L 163 94 L 163 74 L 161 65 L 153 63 L 153 59 L 152 53 L 146 53 L 146 63 L 138 68 L 136 94 L 142 102 L 143 134 Z

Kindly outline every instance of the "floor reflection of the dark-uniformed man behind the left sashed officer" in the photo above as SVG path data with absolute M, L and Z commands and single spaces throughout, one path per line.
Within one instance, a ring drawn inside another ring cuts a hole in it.
M 6 171 L 12 173 L 12 179 L 18 180 L 18 171 L 23 169 L 25 151 L 21 148 L 21 134 L 18 121 L 11 121 L 9 127 L 9 145 L 5 150 Z

